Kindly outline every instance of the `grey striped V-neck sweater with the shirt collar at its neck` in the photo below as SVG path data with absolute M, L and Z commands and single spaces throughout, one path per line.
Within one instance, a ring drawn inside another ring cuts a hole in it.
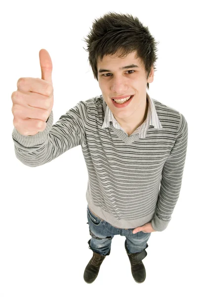
M 33 136 L 12 132 L 16 157 L 36 167 L 81 145 L 88 171 L 86 200 L 100 218 L 117 228 L 148 222 L 166 229 L 179 198 L 188 126 L 184 116 L 148 99 L 146 120 L 130 136 L 103 96 L 79 101 L 53 124 Z

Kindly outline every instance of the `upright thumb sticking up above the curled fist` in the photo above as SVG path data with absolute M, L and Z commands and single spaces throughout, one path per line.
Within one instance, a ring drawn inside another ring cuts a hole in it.
M 41 49 L 39 52 L 41 79 L 52 83 L 52 60 L 46 49 Z

